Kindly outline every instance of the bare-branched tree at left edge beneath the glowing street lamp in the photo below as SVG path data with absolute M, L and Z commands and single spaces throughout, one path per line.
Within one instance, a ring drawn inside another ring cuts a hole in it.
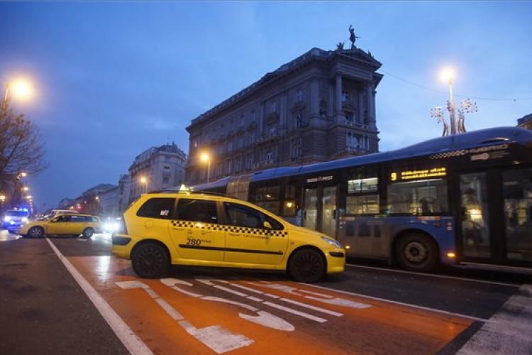
M 0 191 L 16 195 L 21 173 L 34 175 L 48 167 L 38 127 L 16 114 L 9 98 L 0 107 Z

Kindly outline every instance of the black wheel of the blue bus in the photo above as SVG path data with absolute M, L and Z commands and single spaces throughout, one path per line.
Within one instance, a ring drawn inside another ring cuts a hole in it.
M 406 234 L 397 244 L 397 261 L 405 270 L 426 273 L 438 263 L 438 247 L 424 234 Z

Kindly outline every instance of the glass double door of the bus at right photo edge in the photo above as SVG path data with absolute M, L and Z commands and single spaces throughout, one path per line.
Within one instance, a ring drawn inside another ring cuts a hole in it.
M 462 261 L 532 265 L 532 169 L 460 175 Z

